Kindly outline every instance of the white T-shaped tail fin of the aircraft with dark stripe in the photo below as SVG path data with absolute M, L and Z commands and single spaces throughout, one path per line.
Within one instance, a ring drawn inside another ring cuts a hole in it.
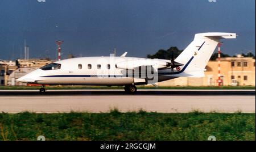
M 175 59 L 183 64 L 177 77 L 204 77 L 204 69 L 220 39 L 236 39 L 236 33 L 197 33 L 191 44 Z

